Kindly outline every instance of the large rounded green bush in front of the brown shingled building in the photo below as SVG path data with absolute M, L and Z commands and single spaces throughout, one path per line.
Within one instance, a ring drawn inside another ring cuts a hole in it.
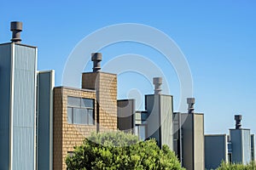
M 183 169 L 168 146 L 160 150 L 154 139 L 138 141 L 132 134 L 92 133 L 67 156 L 67 169 L 150 170 Z

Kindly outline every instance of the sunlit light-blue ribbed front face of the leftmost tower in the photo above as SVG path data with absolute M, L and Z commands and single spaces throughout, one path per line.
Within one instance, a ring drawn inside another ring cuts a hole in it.
M 13 170 L 34 169 L 36 48 L 15 44 Z

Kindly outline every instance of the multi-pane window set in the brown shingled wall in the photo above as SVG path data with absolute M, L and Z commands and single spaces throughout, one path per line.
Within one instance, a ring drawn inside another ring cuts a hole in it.
M 67 123 L 94 125 L 94 99 L 68 96 Z

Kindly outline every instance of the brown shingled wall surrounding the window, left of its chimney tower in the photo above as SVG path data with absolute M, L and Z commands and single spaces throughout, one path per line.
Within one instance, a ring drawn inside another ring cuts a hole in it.
M 96 132 L 95 125 L 74 125 L 67 123 L 67 96 L 95 99 L 95 91 L 63 88 L 54 89 L 54 169 L 67 169 L 66 157 L 73 146 L 83 143 L 85 137 Z M 95 119 L 97 117 L 95 102 Z

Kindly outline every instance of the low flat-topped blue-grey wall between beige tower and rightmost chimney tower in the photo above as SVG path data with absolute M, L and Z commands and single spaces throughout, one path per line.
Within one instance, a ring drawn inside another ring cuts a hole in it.
M 205 136 L 205 163 L 207 169 L 217 168 L 221 161 L 227 161 L 227 136 L 209 135 Z

